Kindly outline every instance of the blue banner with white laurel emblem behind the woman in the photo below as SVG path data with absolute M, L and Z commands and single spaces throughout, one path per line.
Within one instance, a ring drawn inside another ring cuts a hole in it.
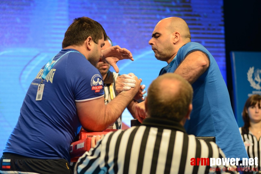
M 234 112 L 239 127 L 244 125 L 242 111 L 246 99 L 261 95 L 261 52 L 231 52 Z

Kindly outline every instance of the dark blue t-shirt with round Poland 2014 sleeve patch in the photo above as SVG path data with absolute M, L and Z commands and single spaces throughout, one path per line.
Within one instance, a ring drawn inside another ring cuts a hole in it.
M 62 50 L 53 61 L 69 51 L 77 50 Z M 70 52 L 50 70 L 42 100 L 36 101 L 43 69 L 30 84 L 3 153 L 70 161 L 69 148 L 81 127 L 75 102 L 103 97 L 102 76 L 81 53 Z

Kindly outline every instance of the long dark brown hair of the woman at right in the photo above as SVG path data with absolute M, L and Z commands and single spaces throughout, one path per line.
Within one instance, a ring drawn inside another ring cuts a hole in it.
M 258 95 L 258 94 L 254 94 L 254 95 L 251 95 L 247 100 L 246 100 L 246 103 L 245 103 L 245 106 L 244 106 L 244 109 L 243 109 L 243 112 L 242 112 L 242 118 L 243 118 L 243 121 L 244 121 L 244 126 L 243 126 L 243 130 L 244 132 L 248 132 L 248 128 L 250 126 L 250 119 L 249 119 L 249 115 L 248 113 L 246 113 L 246 110 L 251 107 L 251 106 L 255 106 L 257 103 L 258 103 L 258 106 L 260 107 L 261 105 L 261 95 Z

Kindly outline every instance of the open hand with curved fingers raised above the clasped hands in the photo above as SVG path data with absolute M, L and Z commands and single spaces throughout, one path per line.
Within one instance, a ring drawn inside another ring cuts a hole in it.
M 123 60 L 123 59 L 130 59 L 134 61 L 132 53 L 125 48 L 120 48 L 120 46 L 118 45 L 102 50 L 101 60 L 102 61 L 105 60 L 108 64 L 110 64 L 114 68 L 116 73 L 119 72 L 119 68 L 116 65 L 116 63 L 119 60 Z

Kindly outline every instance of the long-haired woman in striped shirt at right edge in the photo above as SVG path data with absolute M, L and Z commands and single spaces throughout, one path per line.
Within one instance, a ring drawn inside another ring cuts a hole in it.
M 249 168 L 258 168 L 261 166 L 261 96 L 252 95 L 246 100 L 242 117 L 244 126 L 239 131 L 244 142 L 246 152 L 249 158 L 258 157 L 258 165 L 248 166 Z

